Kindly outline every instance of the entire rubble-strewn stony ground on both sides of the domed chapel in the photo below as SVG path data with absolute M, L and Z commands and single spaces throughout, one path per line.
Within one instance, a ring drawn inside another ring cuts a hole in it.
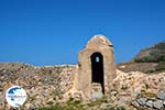
M 74 65 L 35 67 L 22 63 L 1 63 L 0 110 L 14 110 L 4 99 L 6 90 L 13 85 L 23 87 L 28 94 L 23 107 L 18 108 L 20 110 L 53 110 L 47 109 L 51 106 L 66 110 L 165 109 L 165 73 L 117 70 L 117 78 L 112 81 L 114 89 L 110 96 L 88 101 L 81 101 L 78 94 L 72 100 L 65 96 L 74 90 L 77 73 L 78 67 Z

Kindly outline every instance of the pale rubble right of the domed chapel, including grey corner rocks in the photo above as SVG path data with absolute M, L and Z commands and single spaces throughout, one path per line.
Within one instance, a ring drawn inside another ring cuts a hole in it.
M 165 106 L 165 73 L 143 74 L 141 72 L 123 73 L 118 70 L 114 87 L 119 98 L 118 105 L 143 110 L 163 110 Z

